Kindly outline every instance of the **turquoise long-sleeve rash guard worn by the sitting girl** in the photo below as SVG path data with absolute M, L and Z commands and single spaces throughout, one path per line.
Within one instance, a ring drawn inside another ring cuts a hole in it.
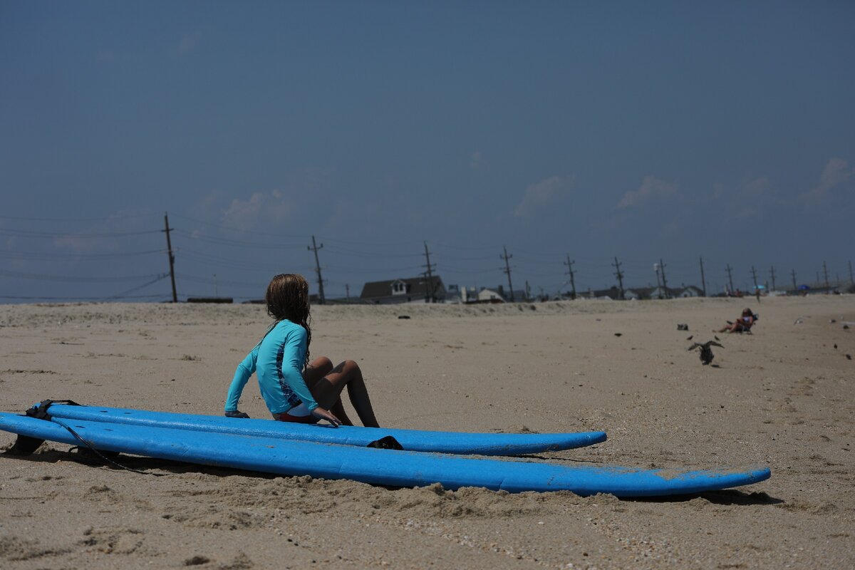
M 238 409 L 238 400 L 246 381 L 257 373 L 258 388 L 271 414 L 287 412 L 301 402 L 309 411 L 318 404 L 303 379 L 308 335 L 290 320 L 280 320 L 234 371 L 228 387 L 226 411 Z

